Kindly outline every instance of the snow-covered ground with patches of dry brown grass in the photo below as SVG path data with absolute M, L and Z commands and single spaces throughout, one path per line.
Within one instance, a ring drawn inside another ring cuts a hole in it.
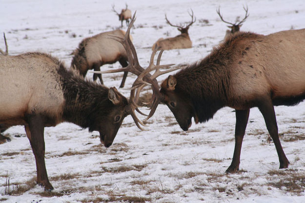
M 0 0 L 0 33 L 5 32 L 9 54 L 29 51 L 51 53 L 70 66 L 70 53 L 85 37 L 119 28 L 119 11 L 125 2 L 137 20 L 131 34 L 143 67 L 151 46 L 161 37 L 179 32 L 175 24 L 190 20 L 190 49 L 164 51 L 162 63 L 188 64 L 202 59 L 223 40 L 225 20 L 249 17 L 241 30 L 270 34 L 305 28 L 304 0 Z M 123 30 L 126 29 L 124 25 Z M 2 37 L 0 48 L 4 49 Z M 119 63 L 102 69 L 120 67 Z M 92 74 L 88 74 L 89 79 Z M 163 81 L 166 75 L 160 77 Z M 105 85 L 118 87 L 122 73 L 103 75 Z M 125 86 L 135 76 L 129 74 Z M 19 80 L 16 78 L 16 80 Z M 129 97 L 127 90 L 119 90 Z M 0 202 L 3 203 L 304 203 L 305 102 L 275 107 L 280 139 L 290 161 L 279 170 L 275 146 L 268 138 L 257 108 L 250 111 L 241 154 L 241 172 L 224 174 L 234 150 L 235 113 L 219 110 L 214 118 L 193 124 L 187 131 L 177 124 L 165 105 L 159 105 L 144 131 L 126 117 L 114 144 L 101 145 L 98 132 L 71 123 L 45 128 L 46 168 L 55 190 L 35 185 L 35 159 L 24 127 L 4 134 L 11 142 L 0 145 Z M 8 184 L 9 181 L 9 184 Z M 9 194 L 8 194 L 9 193 Z

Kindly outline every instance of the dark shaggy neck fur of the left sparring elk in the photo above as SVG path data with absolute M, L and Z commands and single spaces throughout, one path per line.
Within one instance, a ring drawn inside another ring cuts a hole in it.
M 61 66 L 59 69 L 65 105 L 63 120 L 73 122 L 83 128 L 95 126 L 94 121 L 99 121 L 107 115 L 113 103 L 108 99 L 108 88 L 95 82 L 85 81 L 81 76 L 72 71 L 67 71 Z

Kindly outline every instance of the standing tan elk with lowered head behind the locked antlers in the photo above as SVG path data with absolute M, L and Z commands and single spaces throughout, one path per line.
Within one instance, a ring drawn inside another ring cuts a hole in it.
M 89 69 L 99 71 L 100 67 L 104 64 L 112 64 L 119 61 L 122 67 L 126 67 L 127 55 L 124 47 L 118 41 L 110 39 L 108 37 L 109 35 L 124 37 L 125 32 L 122 30 L 114 30 L 85 38 L 73 52 L 74 56 L 71 62 L 71 68 L 77 69 L 85 77 Z M 127 74 L 127 71 L 124 72 L 120 87 L 124 86 Z M 98 77 L 103 84 L 102 75 L 93 74 L 94 81 Z

